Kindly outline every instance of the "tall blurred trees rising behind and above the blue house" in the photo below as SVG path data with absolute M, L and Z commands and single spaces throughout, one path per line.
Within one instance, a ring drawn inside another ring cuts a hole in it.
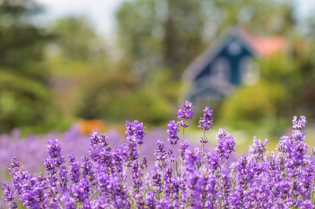
M 134 71 L 165 66 L 176 79 L 227 27 L 245 24 L 260 34 L 286 34 L 295 24 L 293 6 L 275 0 L 135 0 L 120 6 L 117 19 Z

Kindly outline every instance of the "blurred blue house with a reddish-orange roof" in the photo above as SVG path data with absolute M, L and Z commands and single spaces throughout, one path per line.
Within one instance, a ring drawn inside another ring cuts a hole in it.
M 281 36 L 257 36 L 244 27 L 229 29 L 183 73 L 183 80 L 191 84 L 186 99 L 195 107 L 218 105 L 237 86 L 258 82 L 255 59 L 287 49 L 288 42 Z

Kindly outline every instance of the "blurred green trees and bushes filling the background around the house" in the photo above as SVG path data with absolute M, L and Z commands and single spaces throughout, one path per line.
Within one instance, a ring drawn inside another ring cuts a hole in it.
M 118 1 L 113 20 L 104 22 L 73 11 L 46 18 L 48 0 L 0 2 L 0 133 L 64 131 L 92 119 L 165 126 L 184 102 L 183 71 L 240 24 L 260 36 L 285 37 L 290 50 L 255 61 L 260 80 L 240 85 L 214 107 L 216 131 L 227 127 L 246 140 L 258 134 L 275 141 L 293 115 L 315 122 L 311 1 Z M 107 4 L 97 2 L 91 7 L 106 13 Z M 82 2 L 69 1 L 69 10 L 71 3 L 76 10 Z M 108 22 L 110 34 L 97 31 Z M 201 115 L 195 112 L 196 130 Z

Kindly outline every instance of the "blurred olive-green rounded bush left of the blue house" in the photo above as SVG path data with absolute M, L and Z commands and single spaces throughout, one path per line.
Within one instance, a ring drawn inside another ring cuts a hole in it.
M 139 87 L 139 76 L 125 67 L 128 65 L 120 62 L 116 71 L 103 67 L 82 75 L 83 85 L 75 100 L 76 115 L 111 122 L 140 120 L 155 125 L 169 120 L 169 102 L 160 95 L 162 89 Z

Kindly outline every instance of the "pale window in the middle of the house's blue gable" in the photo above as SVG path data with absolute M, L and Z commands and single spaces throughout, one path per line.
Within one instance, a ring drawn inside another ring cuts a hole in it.
M 224 57 L 219 57 L 211 65 L 211 75 L 218 78 L 230 80 L 231 78 L 231 64 L 230 61 Z

